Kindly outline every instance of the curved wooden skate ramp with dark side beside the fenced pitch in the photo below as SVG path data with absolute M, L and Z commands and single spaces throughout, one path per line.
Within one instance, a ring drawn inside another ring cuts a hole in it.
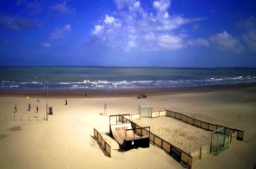
M 131 123 L 110 125 L 111 134 L 125 150 L 138 147 L 149 147 L 149 136 L 139 136 L 134 133 Z

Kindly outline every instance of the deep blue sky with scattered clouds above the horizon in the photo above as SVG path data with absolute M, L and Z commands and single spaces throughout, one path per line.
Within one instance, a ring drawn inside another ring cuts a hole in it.
M 0 66 L 256 68 L 256 2 L 1 0 Z

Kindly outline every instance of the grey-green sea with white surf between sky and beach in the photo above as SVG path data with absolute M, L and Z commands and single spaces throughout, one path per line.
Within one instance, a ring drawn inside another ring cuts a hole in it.
M 181 88 L 253 82 L 256 68 L 0 67 L 0 90 Z

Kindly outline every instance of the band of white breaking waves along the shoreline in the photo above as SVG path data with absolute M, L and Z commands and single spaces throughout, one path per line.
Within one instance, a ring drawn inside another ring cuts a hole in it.
M 235 75 L 235 76 L 206 76 L 204 78 L 172 78 L 156 80 L 81 80 L 81 81 L 49 81 L 49 89 L 96 89 L 96 88 L 177 88 L 209 85 L 226 85 L 256 82 L 255 75 Z M 42 81 L 5 81 L 0 83 L 0 89 L 44 89 L 45 82 Z

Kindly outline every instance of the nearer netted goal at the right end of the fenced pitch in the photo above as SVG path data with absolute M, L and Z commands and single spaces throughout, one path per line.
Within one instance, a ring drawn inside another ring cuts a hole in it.
M 210 153 L 220 154 L 229 147 L 229 137 L 226 135 L 226 128 L 220 128 L 211 133 Z

